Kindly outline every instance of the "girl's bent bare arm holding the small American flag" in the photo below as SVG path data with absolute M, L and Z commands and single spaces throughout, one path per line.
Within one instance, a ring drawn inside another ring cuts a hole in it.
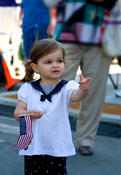
M 38 119 L 42 117 L 43 112 L 36 110 L 27 110 L 27 104 L 21 100 L 18 101 L 18 104 L 14 111 L 14 118 L 19 121 L 20 115 L 30 115 L 33 119 Z

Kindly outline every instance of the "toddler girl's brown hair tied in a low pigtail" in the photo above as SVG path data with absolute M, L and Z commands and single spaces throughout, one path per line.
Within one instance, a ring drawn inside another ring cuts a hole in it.
M 29 60 L 25 64 L 25 81 L 34 80 L 34 71 L 31 67 L 31 63 L 37 64 L 41 57 L 44 57 L 57 49 L 62 50 L 63 60 L 65 62 L 65 50 L 58 41 L 54 39 L 43 39 L 36 41 L 30 50 Z

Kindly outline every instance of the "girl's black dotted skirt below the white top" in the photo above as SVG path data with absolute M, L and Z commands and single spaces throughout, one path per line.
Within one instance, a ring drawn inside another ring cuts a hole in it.
M 66 157 L 24 156 L 25 175 L 67 175 Z

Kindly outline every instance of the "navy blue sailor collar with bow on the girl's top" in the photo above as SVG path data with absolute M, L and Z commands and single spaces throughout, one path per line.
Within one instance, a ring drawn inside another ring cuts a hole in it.
M 52 95 L 57 94 L 61 90 L 61 88 L 67 83 L 68 81 L 61 80 L 49 94 L 46 94 L 44 92 L 42 86 L 40 85 L 40 79 L 32 82 L 31 85 L 34 89 L 43 93 L 43 95 L 41 95 L 40 101 L 45 101 L 45 99 L 47 99 L 48 101 L 51 102 Z

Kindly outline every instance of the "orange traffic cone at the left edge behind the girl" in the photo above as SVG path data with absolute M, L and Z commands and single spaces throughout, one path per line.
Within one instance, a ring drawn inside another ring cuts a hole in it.
M 2 51 L 0 50 L 0 55 L 1 55 L 1 58 L 2 58 L 2 66 L 3 66 L 3 69 L 4 69 L 4 74 L 5 74 L 5 78 L 6 78 L 6 90 L 9 90 L 10 88 L 12 88 L 15 84 L 17 84 L 18 82 L 20 82 L 21 80 L 20 79 L 14 79 L 12 78 L 12 76 L 10 75 L 10 71 L 8 69 L 8 66 L 6 64 L 6 61 L 5 59 L 3 58 L 3 55 L 2 55 Z

